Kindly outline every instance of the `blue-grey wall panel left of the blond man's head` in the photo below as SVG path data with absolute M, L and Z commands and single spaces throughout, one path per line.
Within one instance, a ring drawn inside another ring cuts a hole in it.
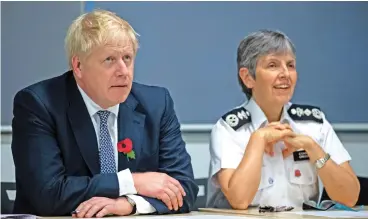
M 15 93 L 68 69 L 64 37 L 81 2 L 1 2 L 1 125 Z

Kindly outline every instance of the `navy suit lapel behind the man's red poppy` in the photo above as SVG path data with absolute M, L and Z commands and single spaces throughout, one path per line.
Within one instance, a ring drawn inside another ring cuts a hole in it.
M 137 167 L 137 159 L 141 154 L 145 115 L 135 111 L 137 104 L 134 96 L 129 94 L 127 100 L 119 106 L 118 142 L 129 138 L 133 143 L 135 159 L 129 158 L 128 160 L 126 154 L 118 152 L 118 171 L 129 168 L 134 172 Z

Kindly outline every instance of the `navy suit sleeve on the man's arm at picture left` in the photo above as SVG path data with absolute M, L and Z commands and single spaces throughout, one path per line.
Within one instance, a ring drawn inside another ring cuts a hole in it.
M 36 211 L 32 213 L 70 215 L 80 203 L 94 196 L 119 196 L 115 173 L 94 177 L 66 175 L 55 121 L 35 92 L 17 93 L 13 113 L 12 153 L 17 190 L 28 199 L 29 209 Z

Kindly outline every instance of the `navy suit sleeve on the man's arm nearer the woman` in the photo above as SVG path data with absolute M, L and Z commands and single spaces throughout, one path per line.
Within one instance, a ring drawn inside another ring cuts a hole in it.
M 177 211 L 170 211 L 161 200 L 144 198 L 156 209 L 158 214 L 187 213 L 193 209 L 198 186 L 194 181 L 191 157 L 185 149 L 180 124 L 174 111 L 174 103 L 166 89 L 165 96 L 166 107 L 161 119 L 158 171 L 178 180 L 185 190 L 186 196 L 183 197 L 183 206 Z

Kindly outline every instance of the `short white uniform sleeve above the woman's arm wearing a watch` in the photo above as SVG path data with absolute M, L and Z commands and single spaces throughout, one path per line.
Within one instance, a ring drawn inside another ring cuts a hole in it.
M 346 161 L 350 161 L 351 157 L 344 148 L 344 145 L 341 143 L 332 125 L 325 120 L 323 126 L 322 133 L 324 134 L 324 151 L 329 153 L 331 155 L 331 159 L 338 165 Z

